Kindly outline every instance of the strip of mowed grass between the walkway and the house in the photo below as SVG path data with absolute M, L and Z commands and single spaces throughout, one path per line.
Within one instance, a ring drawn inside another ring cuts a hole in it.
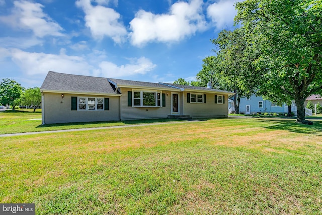
M 128 121 L 102 121 L 102 122 L 79 122 L 46 124 L 41 123 L 41 110 L 22 109 L 18 111 L 0 111 L 0 134 L 26 133 L 38 131 L 67 130 L 77 128 L 96 128 L 120 125 L 133 125 L 144 123 L 159 123 L 178 121 L 176 119 L 147 119 L 147 120 L 128 120 Z

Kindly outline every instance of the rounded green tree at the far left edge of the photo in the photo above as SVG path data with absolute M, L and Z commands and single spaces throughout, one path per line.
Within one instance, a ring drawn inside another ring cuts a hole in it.
M 11 105 L 15 110 L 17 101 L 22 94 L 21 85 L 13 79 L 3 79 L 0 82 L 0 103 Z

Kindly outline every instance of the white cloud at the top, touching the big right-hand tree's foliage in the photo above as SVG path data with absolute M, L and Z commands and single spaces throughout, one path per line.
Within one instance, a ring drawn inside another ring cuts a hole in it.
M 216 27 L 223 29 L 234 24 L 234 17 L 237 15 L 234 3 L 237 0 L 220 0 L 207 8 L 207 15 L 216 24 Z

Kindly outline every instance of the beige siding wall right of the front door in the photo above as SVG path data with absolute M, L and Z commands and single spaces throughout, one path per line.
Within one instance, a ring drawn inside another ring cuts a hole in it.
M 184 114 L 190 115 L 192 118 L 228 117 L 228 95 L 224 96 L 225 104 L 215 104 L 215 94 L 213 93 L 206 93 L 206 103 L 187 103 L 187 92 L 185 92 Z

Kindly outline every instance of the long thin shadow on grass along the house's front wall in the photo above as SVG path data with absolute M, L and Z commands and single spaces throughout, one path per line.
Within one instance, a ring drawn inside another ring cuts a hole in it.
M 138 119 L 138 120 L 127 120 L 127 121 L 98 121 L 98 122 L 71 122 L 71 123 L 57 123 L 57 124 L 45 124 L 39 125 L 37 128 L 46 127 L 68 127 L 68 126 L 82 126 L 82 127 L 109 127 L 109 126 L 120 126 L 120 125 L 135 125 L 135 124 L 147 124 L 147 123 L 159 123 L 159 122 L 174 122 L 182 121 L 180 119 Z M 98 126 L 95 126 L 98 125 Z

